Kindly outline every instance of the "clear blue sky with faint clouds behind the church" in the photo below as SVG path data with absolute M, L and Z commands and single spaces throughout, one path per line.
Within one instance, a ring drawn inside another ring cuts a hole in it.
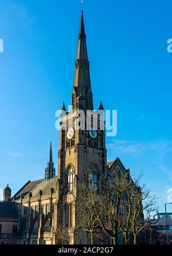
M 117 156 L 159 197 L 172 188 L 171 1 L 84 1 L 95 109 L 118 110 Z M 55 112 L 71 99 L 80 0 L 0 0 L 0 188 L 44 177 Z M 172 211 L 172 207 L 169 211 Z

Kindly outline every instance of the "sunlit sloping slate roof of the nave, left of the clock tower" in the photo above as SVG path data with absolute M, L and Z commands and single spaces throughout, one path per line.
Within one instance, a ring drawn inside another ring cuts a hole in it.
M 32 197 L 37 197 L 40 190 L 42 190 L 42 196 L 50 194 L 50 189 L 53 188 L 56 191 L 57 175 L 49 181 L 44 181 L 44 179 L 37 179 L 36 181 L 27 182 L 22 189 L 20 189 L 13 197 L 18 200 L 21 194 L 24 198 L 29 197 L 29 192 L 32 192 Z

